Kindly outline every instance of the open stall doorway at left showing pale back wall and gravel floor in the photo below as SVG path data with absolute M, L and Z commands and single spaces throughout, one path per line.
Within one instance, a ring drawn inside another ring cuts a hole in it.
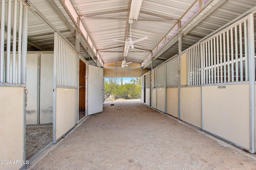
M 52 142 L 53 51 L 29 51 L 26 88 L 26 158 Z

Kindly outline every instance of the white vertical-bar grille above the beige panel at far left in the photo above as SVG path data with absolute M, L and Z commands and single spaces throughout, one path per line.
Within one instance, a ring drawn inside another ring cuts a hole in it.
M 5 8 L 5 4 L 7 4 L 7 8 Z M 23 21 L 25 21 L 25 25 L 22 25 Z M 26 61 L 26 59 L 24 58 L 26 58 L 26 55 L 22 56 L 22 43 L 26 43 L 26 41 L 22 42 L 22 37 L 24 39 L 26 39 L 27 37 L 26 35 L 22 36 L 22 32 L 26 33 L 26 22 L 27 18 L 26 16 L 23 16 L 23 4 L 21 1 L 18 3 L 17 0 L 8 0 L 8 2 L 2 0 L 0 32 L 0 83 L 25 83 L 24 69 L 26 69 L 26 65 L 24 64 L 24 62 Z M 7 25 L 5 25 L 5 23 L 7 23 Z M 4 52 L 5 45 L 6 52 Z M 26 44 L 23 44 L 23 46 L 26 47 Z

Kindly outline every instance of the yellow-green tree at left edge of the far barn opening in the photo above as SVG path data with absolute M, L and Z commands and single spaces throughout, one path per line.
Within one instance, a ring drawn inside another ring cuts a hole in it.
M 119 78 L 108 78 L 104 82 L 104 99 L 108 98 L 110 95 L 113 95 L 116 88 L 118 88 L 120 84 Z

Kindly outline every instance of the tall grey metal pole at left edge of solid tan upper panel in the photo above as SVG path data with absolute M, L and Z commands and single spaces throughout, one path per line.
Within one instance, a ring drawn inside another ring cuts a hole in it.
M 178 21 L 178 119 L 180 119 L 180 53 L 182 52 L 181 21 Z

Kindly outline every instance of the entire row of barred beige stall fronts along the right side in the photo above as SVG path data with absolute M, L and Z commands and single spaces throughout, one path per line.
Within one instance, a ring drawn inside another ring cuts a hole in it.
M 254 153 L 255 18 L 232 21 L 154 68 L 151 106 Z

